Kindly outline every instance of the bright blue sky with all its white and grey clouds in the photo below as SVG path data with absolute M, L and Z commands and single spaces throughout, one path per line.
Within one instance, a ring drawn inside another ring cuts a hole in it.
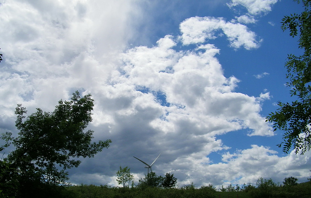
M 265 122 L 297 38 L 283 16 L 291 0 L 0 0 L 0 132 L 17 134 L 17 104 L 52 112 L 75 90 L 95 99 L 94 141 L 108 149 L 69 170 L 73 184 L 135 183 L 152 163 L 179 186 L 310 178 L 311 152 L 276 145 Z M 7 153 L 3 154 L 4 156 Z

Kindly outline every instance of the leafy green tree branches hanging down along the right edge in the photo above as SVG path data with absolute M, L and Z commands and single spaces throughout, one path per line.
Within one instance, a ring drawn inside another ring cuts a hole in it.
M 294 0 L 300 3 L 300 0 Z M 269 114 L 266 121 L 273 123 L 274 130 L 283 130 L 283 152 L 294 148 L 295 153 L 304 154 L 311 148 L 311 0 L 302 0 L 304 11 L 301 14 L 284 16 L 281 29 L 289 29 L 295 37 L 299 33 L 298 48 L 304 52 L 300 56 L 288 55 L 286 83 L 291 88 L 292 103 L 278 102 L 279 108 Z

